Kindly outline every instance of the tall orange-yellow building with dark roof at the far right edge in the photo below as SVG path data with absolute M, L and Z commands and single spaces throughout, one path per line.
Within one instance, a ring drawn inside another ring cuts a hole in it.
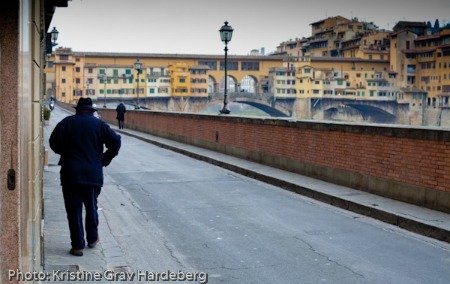
M 399 86 L 427 92 L 428 106 L 448 106 L 450 29 L 427 34 L 421 22 L 399 22 L 396 27 L 391 34 L 390 67 Z

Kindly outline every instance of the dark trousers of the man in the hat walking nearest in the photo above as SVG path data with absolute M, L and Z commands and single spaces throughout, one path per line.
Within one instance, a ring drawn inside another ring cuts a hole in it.
M 69 221 L 72 248 L 83 249 L 86 246 L 83 230 L 83 204 L 86 209 L 86 239 L 88 244 L 98 239 L 97 197 L 100 186 L 70 185 L 63 186 L 64 204 Z

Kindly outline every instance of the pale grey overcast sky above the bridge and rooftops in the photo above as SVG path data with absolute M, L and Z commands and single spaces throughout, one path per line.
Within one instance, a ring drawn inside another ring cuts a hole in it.
M 222 54 L 219 29 L 234 28 L 230 54 L 266 53 L 307 37 L 312 22 L 330 16 L 374 22 L 450 22 L 449 0 L 73 0 L 57 8 L 50 29 L 75 51 Z

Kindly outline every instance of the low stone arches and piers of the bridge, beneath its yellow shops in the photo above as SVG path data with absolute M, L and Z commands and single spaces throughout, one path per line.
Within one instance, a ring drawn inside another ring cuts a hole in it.
M 106 98 L 107 103 L 122 101 L 136 104 L 136 98 Z M 214 93 L 204 97 L 144 97 L 139 102 L 143 108 L 159 111 L 201 112 L 210 103 L 222 102 L 223 94 Z M 277 97 L 270 93 L 232 92 L 229 102 L 251 105 L 272 117 L 296 117 L 317 120 L 370 121 L 396 123 L 408 121 L 408 105 L 398 104 L 395 98 L 349 99 Z M 104 104 L 101 99 L 98 107 Z

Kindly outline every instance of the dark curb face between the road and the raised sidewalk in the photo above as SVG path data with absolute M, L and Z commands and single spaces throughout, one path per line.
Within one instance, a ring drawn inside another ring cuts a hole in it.
M 307 188 L 307 187 L 303 187 L 300 186 L 298 184 L 294 184 L 291 182 L 287 182 L 272 176 L 267 176 L 267 175 L 263 175 L 261 173 L 258 173 L 256 171 L 253 170 L 249 170 L 243 167 L 239 167 L 227 162 L 223 162 L 214 158 L 211 158 L 209 156 L 206 155 L 201 155 L 198 153 L 194 153 L 194 152 L 190 152 L 188 150 L 184 150 L 181 148 L 178 148 L 176 146 L 171 146 L 168 144 L 164 144 L 162 142 L 156 141 L 156 140 L 152 140 L 149 138 L 145 138 L 133 133 L 129 133 L 123 130 L 118 130 L 115 129 L 117 132 L 130 136 L 130 137 L 134 137 L 136 139 L 145 141 L 147 143 L 153 144 L 155 146 L 161 147 L 163 149 L 167 149 L 167 150 L 171 150 L 174 151 L 176 153 L 180 153 L 183 154 L 185 156 L 197 159 L 197 160 L 201 160 L 207 163 L 210 163 L 212 165 L 215 166 L 219 166 L 222 167 L 224 169 L 230 170 L 232 172 L 238 173 L 238 174 L 242 174 L 244 176 L 274 185 L 274 186 L 278 186 L 281 187 L 283 189 L 295 192 L 297 194 L 318 200 L 320 202 L 323 203 L 327 203 L 330 204 L 332 206 L 335 207 L 339 207 L 357 214 L 361 214 L 367 217 L 371 217 L 374 219 L 377 219 L 379 221 L 391 224 L 391 225 L 395 225 L 397 227 L 400 227 L 402 229 L 423 235 L 423 236 L 427 236 L 433 239 L 437 239 L 440 241 L 444 241 L 447 243 L 450 243 L 450 231 L 446 230 L 444 228 L 439 228 L 430 224 L 426 224 L 414 219 L 410 219 L 410 218 L 406 218 L 404 216 L 400 216 L 398 214 L 392 213 L 392 212 L 388 212 L 385 210 L 381 210 L 379 208 L 376 207 L 371 207 L 368 205 L 364 205 L 364 204 L 360 204 L 360 203 L 356 203 L 353 201 L 349 201 L 349 200 L 345 200 L 343 198 L 331 195 L 331 194 L 327 194 L 327 193 L 323 193 L 323 192 L 319 192 L 316 191 L 314 189 L 311 188 Z

